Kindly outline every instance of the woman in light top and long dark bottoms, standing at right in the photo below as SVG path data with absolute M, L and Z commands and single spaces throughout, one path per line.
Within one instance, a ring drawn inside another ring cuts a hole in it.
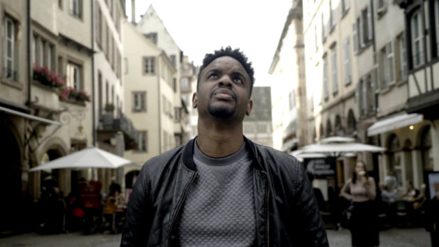
M 379 232 L 376 214 L 376 185 L 369 177 L 363 161 L 355 163 L 351 179 L 346 181 L 340 192 L 351 201 L 351 216 L 348 228 L 351 231 L 352 246 L 379 246 Z

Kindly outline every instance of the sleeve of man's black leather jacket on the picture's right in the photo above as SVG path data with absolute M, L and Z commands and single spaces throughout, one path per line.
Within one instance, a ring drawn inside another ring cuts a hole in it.
M 326 230 L 323 226 L 311 183 L 305 168 L 295 160 L 295 219 L 297 220 L 299 239 L 298 246 L 329 246 Z

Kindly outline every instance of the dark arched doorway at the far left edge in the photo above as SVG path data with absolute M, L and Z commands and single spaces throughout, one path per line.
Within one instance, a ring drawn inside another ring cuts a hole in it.
M 22 227 L 22 156 L 13 131 L 3 121 L 0 121 L 0 137 L 0 188 L 3 188 L 0 232 L 4 232 Z

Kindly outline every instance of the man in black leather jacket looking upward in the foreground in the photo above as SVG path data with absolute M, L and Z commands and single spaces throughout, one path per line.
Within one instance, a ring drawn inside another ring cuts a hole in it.
M 121 246 L 328 246 L 302 165 L 242 135 L 253 84 L 239 50 L 206 54 L 192 98 L 199 135 L 146 162 Z

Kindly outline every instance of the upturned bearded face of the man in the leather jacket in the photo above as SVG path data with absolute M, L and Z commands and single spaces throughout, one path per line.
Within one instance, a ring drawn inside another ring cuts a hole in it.
M 220 119 L 242 119 L 250 114 L 250 77 L 241 63 L 232 57 L 219 57 L 201 71 L 197 93 L 192 104 L 199 116 Z

